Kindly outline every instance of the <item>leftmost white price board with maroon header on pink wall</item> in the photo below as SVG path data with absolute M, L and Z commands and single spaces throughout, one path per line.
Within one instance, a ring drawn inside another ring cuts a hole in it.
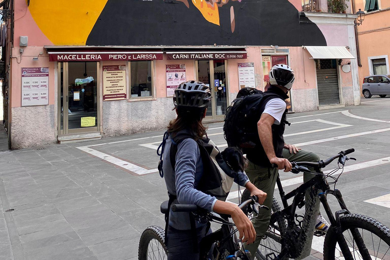
M 22 106 L 49 105 L 49 68 L 22 68 Z

